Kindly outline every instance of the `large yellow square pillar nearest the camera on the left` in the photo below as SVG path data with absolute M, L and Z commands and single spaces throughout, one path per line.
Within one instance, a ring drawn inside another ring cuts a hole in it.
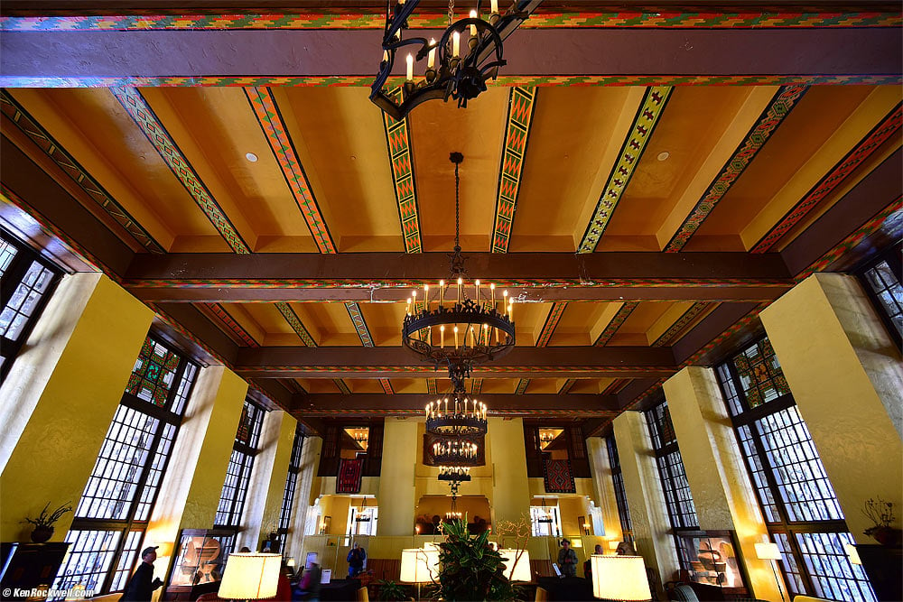
M 154 315 L 106 276 L 67 276 L 0 390 L 21 437 L 0 475 L 0 538 L 28 541 L 50 502 L 78 505 Z M 6 425 L 5 425 L 6 428 Z M 6 433 L 4 433 L 6 439 Z M 73 513 L 55 525 L 62 541 Z

